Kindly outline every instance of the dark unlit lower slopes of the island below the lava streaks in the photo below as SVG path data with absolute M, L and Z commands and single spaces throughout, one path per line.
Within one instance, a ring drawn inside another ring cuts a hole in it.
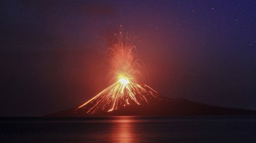
M 87 113 L 89 107 L 77 107 L 45 115 L 45 117 L 87 117 L 87 116 L 227 116 L 256 115 L 256 110 L 212 106 L 189 101 L 184 98 L 152 99 L 148 104 L 121 106 L 113 111 Z

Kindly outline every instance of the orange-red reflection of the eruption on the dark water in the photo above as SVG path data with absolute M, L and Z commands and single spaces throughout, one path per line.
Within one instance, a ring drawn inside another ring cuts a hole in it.
M 111 130 L 110 142 L 140 142 L 133 117 L 116 117 Z

